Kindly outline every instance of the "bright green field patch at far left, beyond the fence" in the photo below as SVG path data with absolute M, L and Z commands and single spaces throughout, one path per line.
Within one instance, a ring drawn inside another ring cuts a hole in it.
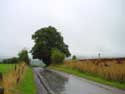
M 10 70 L 14 69 L 15 64 L 0 64 L 0 72 L 1 73 L 7 73 Z

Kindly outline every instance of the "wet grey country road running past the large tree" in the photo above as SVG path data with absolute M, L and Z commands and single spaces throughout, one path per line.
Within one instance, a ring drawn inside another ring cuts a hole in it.
M 40 83 L 36 75 L 36 73 L 40 71 L 43 70 L 41 68 L 34 68 L 38 94 L 47 94 L 44 86 Z M 50 88 L 56 94 L 125 94 L 125 90 L 119 90 L 58 71 L 51 70 L 51 72 L 44 72 L 43 75 L 49 82 Z

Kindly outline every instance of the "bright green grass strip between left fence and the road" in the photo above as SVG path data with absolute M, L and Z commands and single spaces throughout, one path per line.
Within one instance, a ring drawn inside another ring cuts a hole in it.
M 21 94 L 36 94 L 36 85 L 34 82 L 33 71 L 26 69 L 26 73 L 17 88 Z

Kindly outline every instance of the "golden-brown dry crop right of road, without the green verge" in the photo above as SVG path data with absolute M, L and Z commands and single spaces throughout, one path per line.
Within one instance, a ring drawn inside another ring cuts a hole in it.
M 106 80 L 125 82 L 124 59 L 93 59 L 82 61 L 66 61 L 65 66 L 81 72 L 91 73 Z

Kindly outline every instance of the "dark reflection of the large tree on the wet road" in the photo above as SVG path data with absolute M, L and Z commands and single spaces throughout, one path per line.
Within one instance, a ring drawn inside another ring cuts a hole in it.
M 49 70 L 44 70 L 41 74 L 55 93 L 62 94 L 61 92 L 65 91 L 65 84 L 67 83 L 68 78 Z

